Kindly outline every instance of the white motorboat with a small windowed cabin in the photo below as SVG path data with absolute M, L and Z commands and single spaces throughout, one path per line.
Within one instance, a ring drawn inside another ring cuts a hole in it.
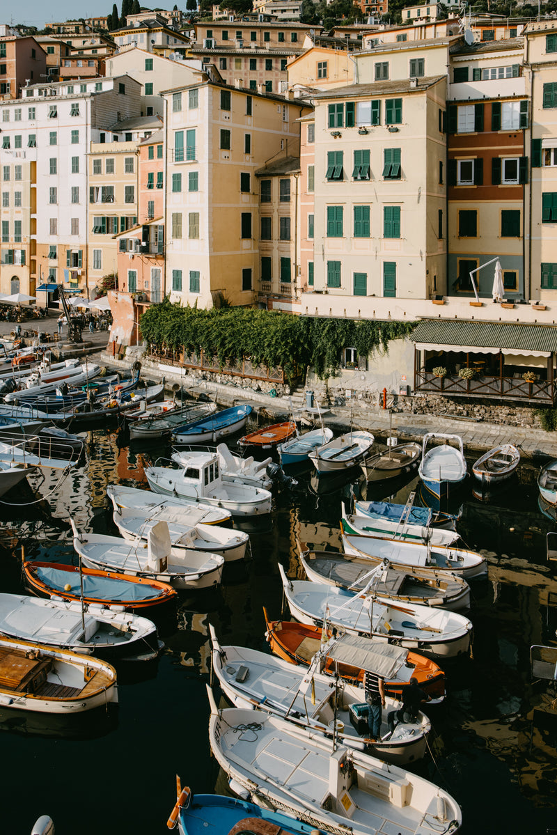
M 247 484 L 225 482 L 220 476 L 216 453 L 188 453 L 180 470 L 146 467 L 149 487 L 154 493 L 200 499 L 230 510 L 233 516 L 263 516 L 271 513 L 271 493 Z

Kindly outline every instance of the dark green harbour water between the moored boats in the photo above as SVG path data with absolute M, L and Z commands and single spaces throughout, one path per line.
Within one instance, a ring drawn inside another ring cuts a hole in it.
M 151 455 L 162 453 L 168 454 Z M 2 590 L 22 589 L 22 545 L 28 559 L 73 559 L 70 516 L 79 529 L 116 533 L 105 488 L 144 483 L 143 463 L 118 433 L 90 433 L 84 466 L 58 487 L 51 477 L 39 488 L 43 496 L 53 491 L 48 500 L 0 505 Z M 412 486 L 398 490 L 396 500 L 405 500 Z M 468 545 L 488 555 L 489 579 L 473 585 L 473 658 L 445 666 L 449 696 L 429 711 L 432 752 L 417 770 L 458 800 L 467 835 L 544 835 L 546 827 L 557 827 L 557 711 L 550 705 L 553 691 L 531 681 L 529 648 L 556 643 L 557 579 L 545 559 L 551 524 L 539 514 L 534 473 L 526 469 L 489 503 L 467 489 L 460 529 Z M 207 741 L 208 624 L 223 644 L 264 649 L 262 606 L 271 617 L 281 611 L 277 561 L 293 576 L 299 572 L 296 537 L 334 545 L 345 493 L 338 483 L 307 478 L 297 493 L 276 493 L 268 524 L 251 534 L 252 559 L 226 566 L 221 590 L 181 595 L 157 665 L 139 674 L 121 671 L 115 714 L 84 714 L 79 726 L 61 728 L 0 711 L 0 832 L 28 835 L 36 818 L 48 813 L 57 835 L 154 835 L 167 831 L 176 772 L 183 785 L 213 791 L 218 771 Z M 220 779 L 220 790 L 224 785 Z

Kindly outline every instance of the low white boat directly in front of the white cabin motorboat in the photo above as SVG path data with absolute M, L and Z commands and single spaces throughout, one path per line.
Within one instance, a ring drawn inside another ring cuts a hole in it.
M 195 498 L 170 498 L 152 490 L 124 487 L 123 484 L 109 484 L 106 494 L 114 509 L 126 508 L 143 513 L 164 511 L 166 508 L 180 511 L 180 522 L 184 524 L 222 524 L 230 526 L 230 510 L 217 508 L 212 504 L 198 502 Z

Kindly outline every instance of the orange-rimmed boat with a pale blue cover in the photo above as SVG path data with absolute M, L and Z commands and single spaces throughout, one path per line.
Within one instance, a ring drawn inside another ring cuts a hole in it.
M 115 574 L 100 569 L 78 569 L 61 563 L 23 563 L 28 589 L 40 597 L 81 600 L 87 605 L 151 615 L 156 606 L 176 603 L 176 592 L 160 580 Z

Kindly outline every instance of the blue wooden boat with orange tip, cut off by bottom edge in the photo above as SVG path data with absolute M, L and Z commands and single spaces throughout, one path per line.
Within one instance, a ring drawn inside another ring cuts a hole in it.
M 174 828 L 176 822 L 180 835 L 324 835 L 312 823 L 304 823 L 296 817 L 282 812 L 256 806 L 236 797 L 224 797 L 218 794 L 193 795 L 189 788 L 180 789 L 180 780 L 176 783 L 177 800 L 170 813 L 167 826 Z M 294 815 L 294 812 L 291 812 Z

